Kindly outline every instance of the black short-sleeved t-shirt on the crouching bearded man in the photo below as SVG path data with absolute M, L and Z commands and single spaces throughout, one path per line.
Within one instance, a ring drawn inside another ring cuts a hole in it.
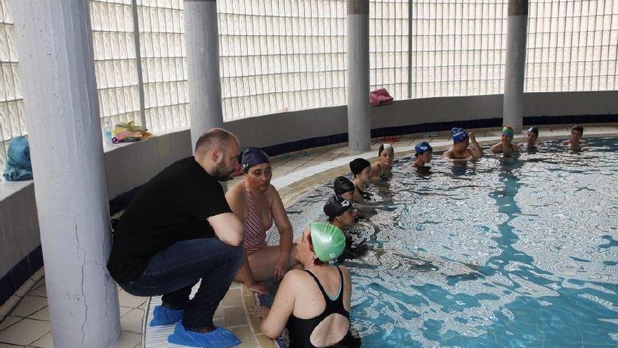
M 179 160 L 145 183 L 124 210 L 107 269 L 118 283 L 133 281 L 166 247 L 214 237 L 206 218 L 226 212 L 232 210 L 218 181 L 193 157 Z

